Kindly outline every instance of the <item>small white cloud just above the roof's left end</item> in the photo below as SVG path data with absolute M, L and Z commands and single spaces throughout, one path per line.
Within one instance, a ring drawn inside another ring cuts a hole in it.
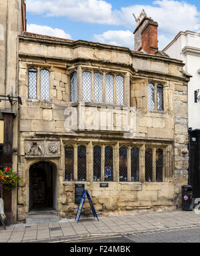
M 63 29 L 53 29 L 53 27 L 48 27 L 45 25 L 27 24 L 27 32 L 71 39 L 71 35 L 65 33 Z

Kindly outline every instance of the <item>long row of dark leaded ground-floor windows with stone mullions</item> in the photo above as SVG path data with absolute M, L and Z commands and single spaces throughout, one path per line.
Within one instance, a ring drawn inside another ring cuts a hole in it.
M 164 160 L 165 150 L 157 146 L 74 142 L 65 146 L 65 180 L 163 182 Z

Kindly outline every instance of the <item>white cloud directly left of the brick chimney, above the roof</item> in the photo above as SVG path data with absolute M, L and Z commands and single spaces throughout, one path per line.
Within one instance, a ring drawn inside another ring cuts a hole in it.
M 123 47 L 134 48 L 134 35 L 133 32 L 127 30 L 117 30 L 117 31 L 106 31 L 101 35 L 93 35 L 94 39 L 99 43 L 107 43 L 111 45 L 118 45 Z

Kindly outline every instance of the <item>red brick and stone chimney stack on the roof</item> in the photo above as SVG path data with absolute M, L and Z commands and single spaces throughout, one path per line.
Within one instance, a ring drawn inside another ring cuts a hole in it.
M 158 50 L 157 41 L 158 23 L 147 17 L 142 11 L 137 18 L 137 27 L 134 31 L 135 50 L 144 50 L 148 54 L 155 54 Z

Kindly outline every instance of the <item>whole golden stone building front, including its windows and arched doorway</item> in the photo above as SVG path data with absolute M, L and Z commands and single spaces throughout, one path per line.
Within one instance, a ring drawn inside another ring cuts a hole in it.
M 142 15 L 137 31 L 144 23 L 151 31 L 148 22 Z M 142 36 L 135 40 L 141 44 Z M 75 217 L 75 184 L 85 185 L 103 216 L 180 204 L 189 76 L 182 61 L 157 51 L 157 39 L 153 48 L 143 45 L 133 51 L 19 35 L 18 221 L 31 209 Z

